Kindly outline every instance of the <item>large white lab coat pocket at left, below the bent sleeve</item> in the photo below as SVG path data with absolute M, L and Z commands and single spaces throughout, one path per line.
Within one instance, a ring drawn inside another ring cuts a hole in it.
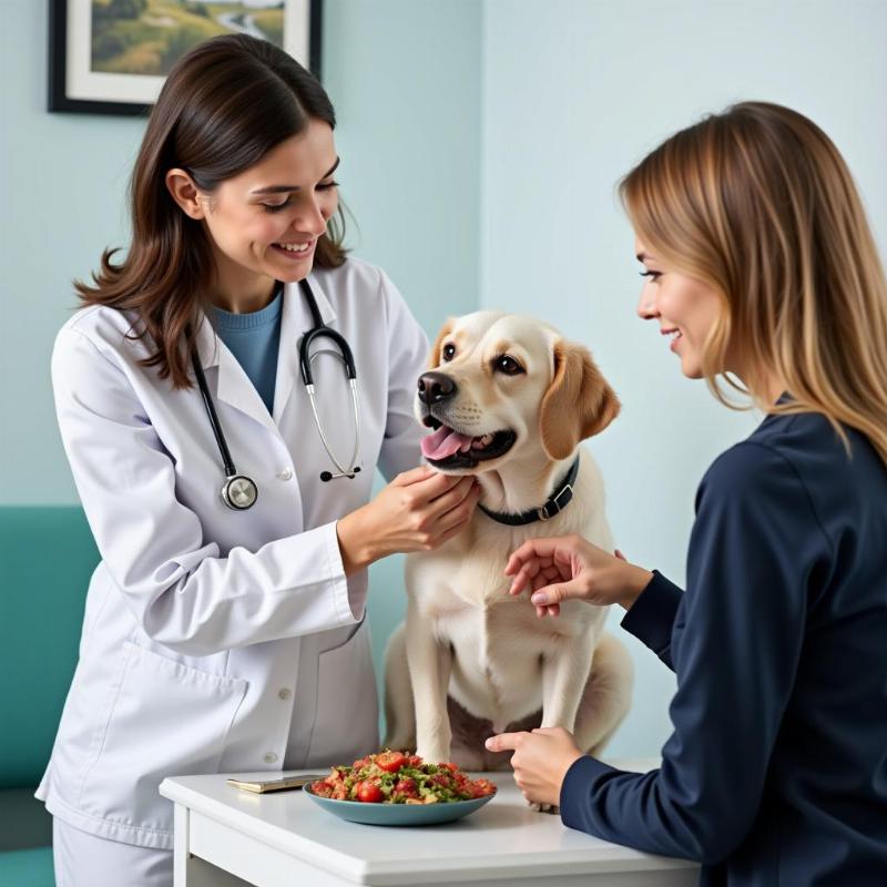
M 123 677 L 81 806 L 103 819 L 171 830 L 172 804 L 157 787 L 165 776 L 218 772 L 248 682 L 124 646 Z

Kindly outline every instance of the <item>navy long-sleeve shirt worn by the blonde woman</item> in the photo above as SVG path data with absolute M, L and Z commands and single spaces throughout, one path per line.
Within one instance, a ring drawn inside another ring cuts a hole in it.
M 565 825 L 708 887 L 887 885 L 887 469 L 848 435 L 769 416 L 708 469 L 686 591 L 622 622 L 677 676 L 662 765 L 579 758 Z

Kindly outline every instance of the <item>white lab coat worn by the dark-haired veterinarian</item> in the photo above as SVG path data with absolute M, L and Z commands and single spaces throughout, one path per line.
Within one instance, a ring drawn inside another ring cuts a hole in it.
M 166 775 L 325 767 L 377 748 L 366 573 L 346 580 L 335 521 L 368 501 L 375 466 L 390 479 L 420 462 L 412 397 L 428 343 L 378 268 L 350 258 L 309 281 L 324 322 L 354 351 L 364 470 L 319 479 L 333 466 L 298 368 L 312 319 L 287 285 L 273 417 L 210 325 L 201 330 L 233 460 L 258 485 L 245 512 L 221 499 L 198 389 L 174 391 L 139 366 L 147 351 L 125 338 L 132 316 L 90 307 L 59 333 L 59 427 L 102 562 L 37 797 L 78 828 L 169 849 L 172 805 L 157 794 Z M 324 429 L 346 460 L 343 366 L 322 356 L 314 377 Z

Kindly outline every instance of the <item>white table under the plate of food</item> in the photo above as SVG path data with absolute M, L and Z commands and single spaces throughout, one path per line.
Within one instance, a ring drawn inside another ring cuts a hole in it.
M 639 772 L 657 762 L 612 762 Z M 307 771 L 287 771 L 286 775 Z M 177 776 L 161 794 L 175 804 L 175 887 L 519 885 L 695 887 L 695 863 L 651 856 L 533 813 L 511 773 L 483 774 L 498 795 L 471 816 L 421 828 L 346 823 L 300 791 L 265 795 L 225 783 L 269 773 Z M 208 864 L 208 865 L 207 865 Z

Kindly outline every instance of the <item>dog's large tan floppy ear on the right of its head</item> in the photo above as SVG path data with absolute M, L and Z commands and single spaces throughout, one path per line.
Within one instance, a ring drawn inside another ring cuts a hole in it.
M 588 349 L 554 343 L 554 378 L 542 398 L 539 417 L 542 446 L 552 459 L 565 459 L 580 440 L 603 431 L 619 415 L 613 389 Z

